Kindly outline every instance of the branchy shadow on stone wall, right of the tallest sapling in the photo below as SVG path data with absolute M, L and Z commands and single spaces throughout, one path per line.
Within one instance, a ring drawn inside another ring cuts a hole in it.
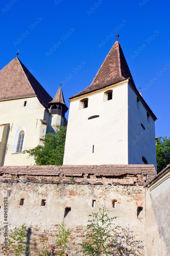
M 138 240 L 136 232 L 131 231 L 129 228 L 122 228 L 116 234 L 117 243 L 111 244 L 113 255 L 135 256 L 144 255 L 143 241 Z

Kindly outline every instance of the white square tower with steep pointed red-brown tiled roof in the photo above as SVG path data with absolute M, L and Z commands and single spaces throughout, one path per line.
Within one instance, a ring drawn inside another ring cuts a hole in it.
M 91 85 L 69 101 L 63 164 L 156 167 L 156 116 L 136 89 L 118 40 Z

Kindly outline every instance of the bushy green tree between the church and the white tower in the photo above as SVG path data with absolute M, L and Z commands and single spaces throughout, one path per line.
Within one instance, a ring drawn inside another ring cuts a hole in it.
M 32 149 L 24 150 L 23 154 L 28 153 L 34 157 L 36 165 L 62 165 L 64 157 L 64 147 L 66 141 L 67 126 L 56 126 L 56 135 L 47 133 L 44 138 L 43 146 L 38 145 Z

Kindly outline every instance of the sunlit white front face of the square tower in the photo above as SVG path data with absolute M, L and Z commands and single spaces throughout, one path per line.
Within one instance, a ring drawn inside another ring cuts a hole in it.
M 71 100 L 63 164 L 128 164 L 127 82 Z M 103 101 L 109 89 L 112 100 Z M 83 98 L 88 107 L 80 109 Z

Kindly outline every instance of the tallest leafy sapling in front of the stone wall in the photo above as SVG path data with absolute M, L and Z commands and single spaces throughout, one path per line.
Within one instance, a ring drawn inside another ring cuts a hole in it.
M 117 217 L 108 217 L 108 212 L 112 212 L 107 210 L 106 205 L 102 205 L 98 207 L 99 212 L 94 213 L 92 215 L 88 215 L 89 217 L 93 217 L 93 220 L 88 220 L 90 224 L 87 224 L 87 234 L 84 235 L 85 242 L 82 245 L 82 252 L 85 255 L 90 256 L 99 256 L 99 255 L 109 255 L 113 252 L 109 249 L 111 243 L 116 243 L 117 239 L 114 236 L 116 233 L 116 229 L 119 229 L 120 226 L 114 226 L 113 220 Z

